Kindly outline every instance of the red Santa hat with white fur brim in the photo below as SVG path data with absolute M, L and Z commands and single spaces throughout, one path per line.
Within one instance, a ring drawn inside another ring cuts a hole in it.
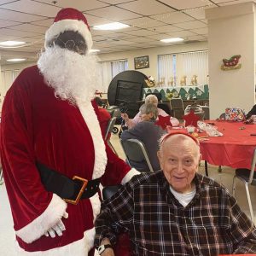
M 47 46 L 50 40 L 65 31 L 79 32 L 85 40 L 87 52 L 90 51 L 92 47 L 90 27 L 86 18 L 79 10 L 73 8 L 61 9 L 56 15 L 54 23 L 45 33 L 44 45 Z

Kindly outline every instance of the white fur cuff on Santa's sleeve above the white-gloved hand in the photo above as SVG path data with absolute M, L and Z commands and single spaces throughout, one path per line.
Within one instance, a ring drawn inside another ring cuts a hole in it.
M 66 208 L 67 203 L 58 195 L 53 194 L 46 210 L 30 224 L 27 224 L 22 229 L 17 230 L 16 235 L 23 241 L 26 241 L 26 243 L 38 240 L 39 237 L 44 236 L 46 231 L 53 227 L 62 218 Z

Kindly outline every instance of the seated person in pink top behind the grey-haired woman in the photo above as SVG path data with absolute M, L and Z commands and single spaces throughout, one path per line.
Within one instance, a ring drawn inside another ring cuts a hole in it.
M 153 95 L 153 94 L 150 94 L 148 96 L 146 96 L 145 98 L 145 104 L 154 104 L 155 107 L 157 107 L 158 105 L 158 99 L 157 99 L 157 96 Z M 158 116 L 161 115 L 161 116 L 167 116 L 168 114 L 161 108 L 157 108 L 157 111 L 158 111 Z M 129 119 L 129 116 L 127 113 L 122 113 L 122 118 L 125 119 L 125 125 L 130 129 L 132 127 L 134 127 L 135 125 L 137 125 L 139 122 L 142 121 L 141 119 L 141 113 L 137 113 L 137 115 L 133 118 L 133 119 Z M 178 119 L 176 118 L 173 118 L 171 117 L 171 123 L 172 123 L 172 126 L 177 126 L 179 125 L 179 121 Z

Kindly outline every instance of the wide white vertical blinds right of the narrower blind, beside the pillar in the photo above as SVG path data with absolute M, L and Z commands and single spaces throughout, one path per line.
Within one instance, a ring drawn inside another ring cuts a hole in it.
M 208 51 L 195 51 L 176 55 L 177 84 L 186 76 L 186 85 L 192 85 L 191 79 L 195 76 L 197 84 L 207 84 Z

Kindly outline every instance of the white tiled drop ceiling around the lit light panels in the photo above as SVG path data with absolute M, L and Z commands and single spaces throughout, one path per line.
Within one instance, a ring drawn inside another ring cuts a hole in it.
M 1 64 L 10 57 L 37 59 L 44 33 L 56 13 L 79 9 L 90 27 L 119 21 L 130 25 L 118 31 L 92 28 L 93 49 L 101 53 L 166 45 L 163 38 L 184 38 L 186 43 L 207 41 L 205 9 L 252 0 L 0 0 L 0 41 L 22 40 L 26 47 L 0 49 Z

